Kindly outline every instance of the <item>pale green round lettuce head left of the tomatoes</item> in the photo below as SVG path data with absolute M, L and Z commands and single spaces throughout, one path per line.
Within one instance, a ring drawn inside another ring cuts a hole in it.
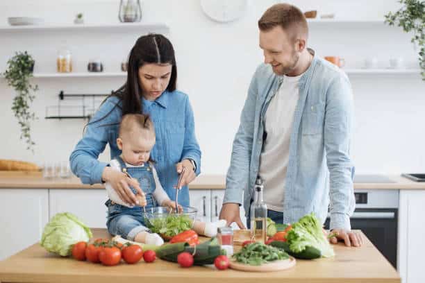
M 74 214 L 58 213 L 44 227 L 41 246 L 49 252 L 66 257 L 71 254 L 72 245 L 79 241 L 88 241 L 92 231 Z

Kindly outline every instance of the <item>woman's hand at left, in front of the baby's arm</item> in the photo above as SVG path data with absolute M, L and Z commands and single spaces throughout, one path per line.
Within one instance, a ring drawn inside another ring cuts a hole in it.
M 138 192 L 138 195 L 140 194 L 144 198 L 144 192 L 140 189 L 138 180 L 129 178 L 126 174 L 110 167 L 105 167 L 103 170 L 102 180 L 110 183 L 124 203 L 132 206 L 142 205 L 130 189 L 130 186 L 133 187 Z

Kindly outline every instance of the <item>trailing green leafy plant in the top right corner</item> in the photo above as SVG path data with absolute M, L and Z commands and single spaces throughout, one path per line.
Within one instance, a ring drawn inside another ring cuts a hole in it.
M 422 80 L 425 80 L 425 1 L 400 0 L 403 6 L 397 12 L 385 15 L 385 23 L 390 26 L 401 26 L 403 31 L 413 32 L 411 42 L 419 46 L 419 67 L 422 69 Z

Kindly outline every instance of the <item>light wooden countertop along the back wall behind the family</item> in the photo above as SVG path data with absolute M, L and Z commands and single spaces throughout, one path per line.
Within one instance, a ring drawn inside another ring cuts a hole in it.
M 355 182 L 354 189 L 425 189 L 425 182 L 414 182 L 401 175 L 359 175 L 374 176 L 373 182 Z M 381 176 L 381 178 L 376 178 Z M 379 180 L 383 180 L 380 182 Z M 386 180 L 391 182 L 387 182 Z M 200 175 L 189 185 L 190 189 L 225 189 L 225 175 Z M 81 180 L 72 178 L 44 179 L 42 177 L 0 177 L 0 189 L 103 189 L 103 185 L 83 185 Z

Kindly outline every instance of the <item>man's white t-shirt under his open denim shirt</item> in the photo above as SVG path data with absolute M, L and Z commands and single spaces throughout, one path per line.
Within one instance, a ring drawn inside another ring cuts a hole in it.
M 283 76 L 283 83 L 265 113 L 267 138 L 263 142 L 258 174 L 264 180 L 267 209 L 283 212 L 292 121 L 299 98 L 299 76 Z

